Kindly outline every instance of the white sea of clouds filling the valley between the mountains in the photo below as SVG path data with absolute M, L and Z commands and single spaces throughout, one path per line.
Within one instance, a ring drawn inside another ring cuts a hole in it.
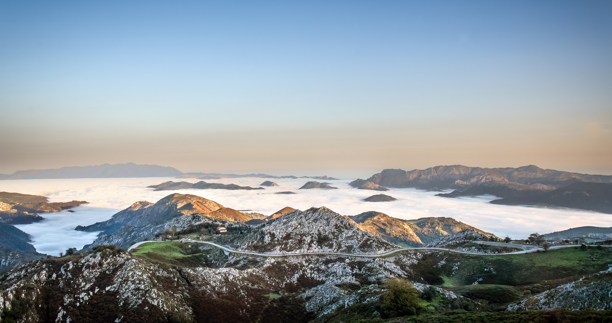
M 72 200 L 88 201 L 75 207 L 75 212 L 41 213 L 45 220 L 30 225 L 18 225 L 31 234 L 32 244 L 40 253 L 59 254 L 67 248 L 82 248 L 91 243 L 97 232 L 75 231 L 77 225 L 91 225 L 105 221 L 136 201 L 156 202 L 171 193 L 203 196 L 237 210 L 271 215 L 285 206 L 305 210 L 326 206 L 343 215 L 357 215 L 378 211 L 392 217 L 416 219 L 422 217 L 452 217 L 463 223 L 496 234 L 525 239 L 532 232 L 549 233 L 577 226 L 610 226 L 612 215 L 580 210 L 550 207 L 501 206 L 488 203 L 494 196 L 472 198 L 441 198 L 437 192 L 415 188 L 391 188 L 386 192 L 357 190 L 343 180 L 318 180 L 329 182 L 338 190 L 298 190 L 312 179 L 263 179 L 242 177 L 234 179 L 204 180 L 223 184 L 258 187 L 264 180 L 273 180 L 280 187 L 266 190 L 176 190 L 153 191 L 146 188 L 168 180 L 174 182 L 198 182 L 199 179 L 174 179 L 173 177 L 105 178 L 105 179 L 24 179 L 0 180 L 0 191 L 47 196 L 50 202 Z M 273 194 L 278 191 L 294 191 L 296 194 Z M 364 202 L 368 196 L 384 193 L 397 201 Z

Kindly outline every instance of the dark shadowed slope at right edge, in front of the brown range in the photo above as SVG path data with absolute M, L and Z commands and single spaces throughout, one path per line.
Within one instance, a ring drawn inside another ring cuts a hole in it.
M 559 206 L 572 209 L 612 213 L 612 185 L 576 182 L 548 193 L 524 198 L 504 198 L 491 201 L 504 205 Z

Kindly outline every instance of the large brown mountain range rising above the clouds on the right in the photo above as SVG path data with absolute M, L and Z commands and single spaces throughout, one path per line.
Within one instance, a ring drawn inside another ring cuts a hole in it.
M 542 169 L 535 165 L 519 168 L 480 168 L 463 165 L 427 169 L 384 169 L 369 179 L 356 179 L 352 187 L 380 185 L 395 188 L 455 188 L 436 196 L 494 195 L 493 204 L 558 206 L 612 213 L 612 175 L 591 175 Z

